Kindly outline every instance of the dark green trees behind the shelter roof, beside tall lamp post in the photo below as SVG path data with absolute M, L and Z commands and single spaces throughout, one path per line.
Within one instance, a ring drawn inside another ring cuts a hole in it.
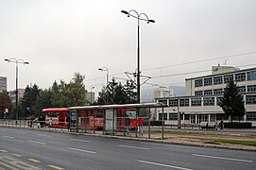
M 132 81 L 127 81 L 126 85 L 116 82 L 114 79 L 108 84 L 107 89 L 102 89 L 95 104 L 129 104 L 135 103 L 135 85 Z

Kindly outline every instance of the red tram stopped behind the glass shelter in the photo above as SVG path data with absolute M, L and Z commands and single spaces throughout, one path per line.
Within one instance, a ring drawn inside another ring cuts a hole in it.
M 129 128 L 135 129 L 144 124 L 143 118 L 138 118 L 136 126 L 136 110 L 117 108 L 117 109 L 101 109 L 100 106 L 85 106 L 80 110 L 68 108 L 49 108 L 43 109 L 45 116 L 45 125 L 52 127 L 68 127 L 67 117 L 70 116 L 70 111 L 77 111 L 77 127 L 86 129 L 100 130 L 104 125 L 108 124 L 108 116 L 111 113 L 111 120 L 114 122 L 114 128 L 117 131 L 124 131 L 126 128 L 125 120 L 129 119 Z M 69 119 L 68 119 L 69 120 Z

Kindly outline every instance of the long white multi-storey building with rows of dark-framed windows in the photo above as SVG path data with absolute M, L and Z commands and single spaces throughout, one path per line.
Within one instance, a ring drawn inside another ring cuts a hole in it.
M 244 97 L 247 113 L 243 121 L 252 122 L 256 126 L 256 68 L 239 70 L 220 65 L 212 67 L 212 75 L 186 78 L 186 95 L 156 98 L 157 102 L 169 106 L 163 113 L 157 110 L 157 120 L 162 120 L 163 116 L 165 124 L 177 125 L 179 112 L 181 124 L 218 122 L 222 118 L 228 121 L 229 118 L 224 116 L 218 102 L 231 78 Z

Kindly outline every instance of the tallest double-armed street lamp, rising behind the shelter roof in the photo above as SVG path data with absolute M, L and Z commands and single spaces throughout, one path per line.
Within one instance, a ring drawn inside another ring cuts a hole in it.
M 134 9 L 131 9 L 129 11 L 126 11 L 126 10 L 122 10 L 121 11 L 122 13 L 131 16 L 133 18 L 136 18 L 138 20 L 138 53 L 137 53 L 137 57 L 138 57 L 138 60 L 137 60 L 137 103 L 140 103 L 141 101 L 141 82 L 140 82 L 140 78 L 141 78 L 141 72 L 140 72 L 140 21 L 145 21 L 147 24 L 149 23 L 155 23 L 154 20 L 149 20 L 147 15 L 145 13 L 138 13 L 136 10 Z M 132 15 L 130 13 L 135 13 L 136 15 Z M 144 15 L 145 18 L 141 18 L 141 16 Z

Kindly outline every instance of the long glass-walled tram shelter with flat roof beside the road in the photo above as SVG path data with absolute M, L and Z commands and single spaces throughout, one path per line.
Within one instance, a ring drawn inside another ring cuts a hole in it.
M 164 107 L 161 103 L 71 107 L 70 130 L 136 137 L 145 131 L 150 138 L 150 120 L 156 108 Z

